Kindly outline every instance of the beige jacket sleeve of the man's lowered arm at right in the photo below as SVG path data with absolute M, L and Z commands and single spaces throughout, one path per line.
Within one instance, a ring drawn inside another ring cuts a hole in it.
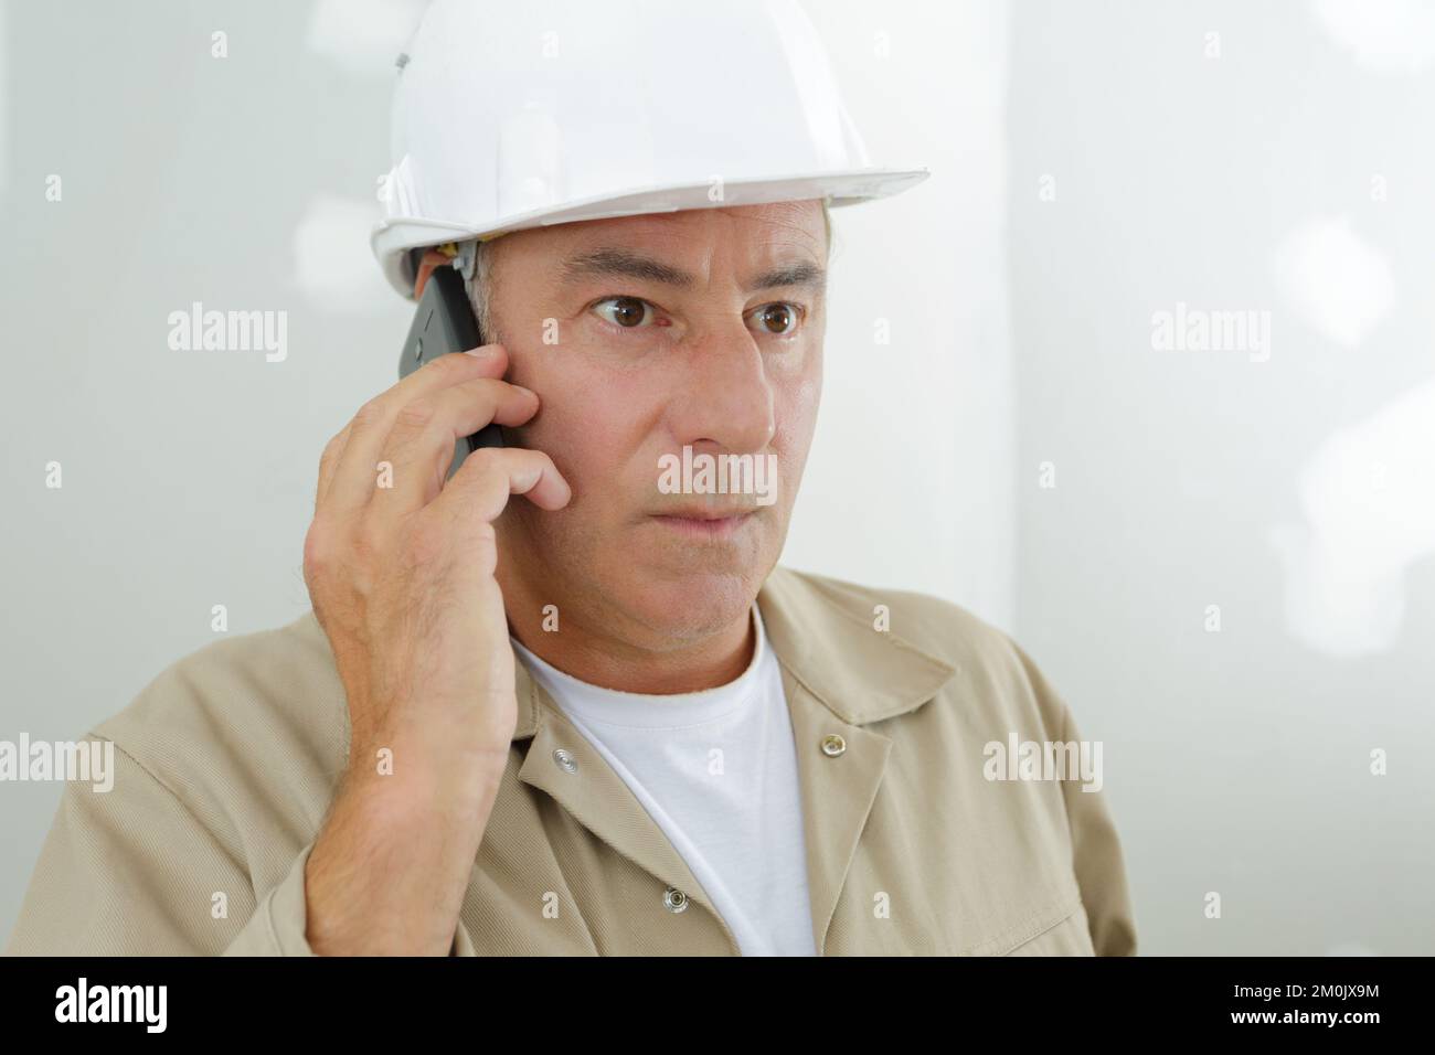
M 1056 739 L 1081 741 L 1071 708 L 1048 683 L 1020 646 L 1016 649 L 1042 711 L 1053 716 Z M 1137 922 L 1126 886 L 1125 857 L 1106 792 L 1085 791 L 1081 781 L 1062 781 L 1062 798 L 1072 840 L 1072 867 L 1081 888 L 1092 947 L 1098 956 L 1135 956 Z

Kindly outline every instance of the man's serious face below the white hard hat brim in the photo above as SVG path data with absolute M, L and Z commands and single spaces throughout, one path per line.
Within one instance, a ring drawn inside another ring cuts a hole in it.
M 594 220 L 491 248 L 508 380 L 542 400 L 512 442 L 548 454 L 573 487 L 557 512 L 509 504 L 498 524 L 505 596 L 517 577 L 564 624 L 636 647 L 730 627 L 782 551 L 817 421 L 821 204 Z M 682 459 L 684 446 L 695 466 L 700 455 L 775 466 L 771 504 L 664 492 L 664 455 Z M 719 512 L 742 515 L 700 520 Z

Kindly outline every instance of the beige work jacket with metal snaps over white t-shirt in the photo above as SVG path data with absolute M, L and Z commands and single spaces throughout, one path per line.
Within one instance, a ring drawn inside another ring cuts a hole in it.
M 933 597 L 781 567 L 758 604 L 821 955 L 1135 950 L 1105 791 L 992 779 L 992 744 L 1078 739 L 1006 634 Z M 517 669 L 518 725 L 452 950 L 738 955 L 657 824 Z M 90 736 L 115 744 L 113 788 L 66 784 L 9 953 L 310 955 L 304 863 L 349 741 L 313 613 L 179 660 Z

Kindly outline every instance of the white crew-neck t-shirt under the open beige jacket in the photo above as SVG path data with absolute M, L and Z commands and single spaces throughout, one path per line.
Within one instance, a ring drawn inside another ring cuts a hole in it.
M 682 854 L 743 956 L 815 956 L 792 721 L 752 607 L 748 670 L 716 689 L 651 696 L 580 682 L 514 652 Z

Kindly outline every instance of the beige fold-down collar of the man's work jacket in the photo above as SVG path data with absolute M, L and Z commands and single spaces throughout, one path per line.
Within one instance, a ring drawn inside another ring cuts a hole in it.
M 848 725 L 916 711 L 956 672 L 891 632 L 875 630 L 865 600 L 845 596 L 834 580 L 775 567 L 758 593 L 758 607 L 782 666 Z M 531 739 L 538 729 L 538 708 L 554 703 L 517 656 L 514 672 L 514 739 Z

